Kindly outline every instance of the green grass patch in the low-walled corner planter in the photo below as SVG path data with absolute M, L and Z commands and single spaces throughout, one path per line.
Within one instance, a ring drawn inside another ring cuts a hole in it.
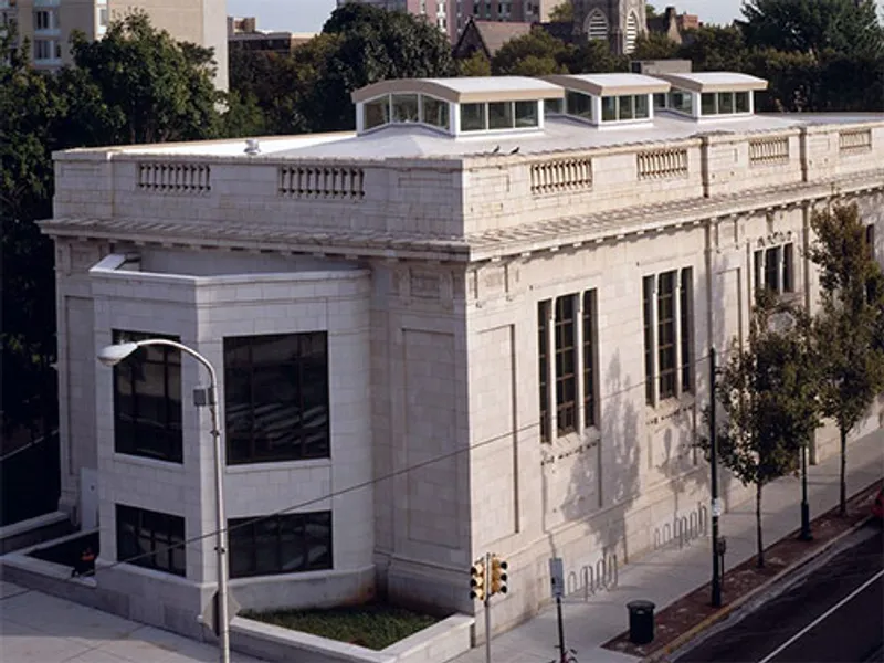
M 276 610 L 245 617 L 294 631 L 382 650 L 439 620 L 386 603 L 366 603 L 329 610 Z

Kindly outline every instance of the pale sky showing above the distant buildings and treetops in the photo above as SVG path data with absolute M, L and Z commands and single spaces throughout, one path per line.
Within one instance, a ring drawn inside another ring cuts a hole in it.
M 257 17 L 261 30 L 319 32 L 336 4 L 335 0 L 228 0 L 228 13 Z M 729 23 L 741 17 L 743 0 L 652 0 L 651 4 L 659 11 L 675 6 L 678 13 L 697 14 L 705 23 Z M 884 11 L 884 0 L 878 6 Z

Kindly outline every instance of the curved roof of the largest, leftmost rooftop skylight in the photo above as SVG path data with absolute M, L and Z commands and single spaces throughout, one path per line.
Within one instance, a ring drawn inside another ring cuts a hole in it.
M 559 99 L 565 91 L 557 85 L 527 76 L 474 76 L 467 78 L 397 78 L 379 81 L 356 90 L 354 103 L 385 94 L 422 93 L 455 104 L 474 102 L 520 102 Z

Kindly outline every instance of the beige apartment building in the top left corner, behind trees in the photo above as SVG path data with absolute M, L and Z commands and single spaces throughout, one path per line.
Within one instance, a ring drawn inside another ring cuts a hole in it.
M 228 42 L 224 0 L 0 0 L 0 25 L 14 24 L 19 40 L 31 44 L 31 61 L 42 70 L 71 63 L 71 33 L 102 39 L 108 21 L 144 11 L 150 22 L 178 41 L 214 50 L 215 85 L 228 87 Z

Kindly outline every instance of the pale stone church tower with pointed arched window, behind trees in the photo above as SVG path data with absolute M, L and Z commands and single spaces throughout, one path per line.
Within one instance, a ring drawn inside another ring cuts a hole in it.
M 648 32 L 645 0 L 571 0 L 575 31 L 603 39 L 618 55 L 629 54 L 635 39 Z

